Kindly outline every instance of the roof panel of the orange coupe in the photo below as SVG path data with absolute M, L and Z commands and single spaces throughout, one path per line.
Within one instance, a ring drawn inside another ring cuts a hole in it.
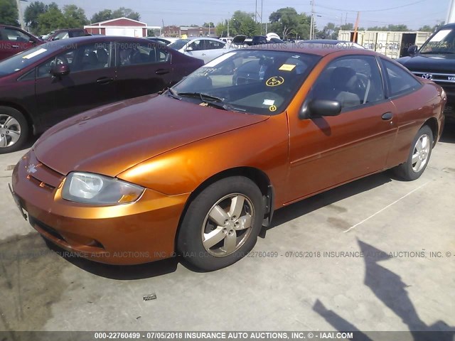
M 353 53 L 346 53 L 346 55 L 361 54 L 361 55 L 380 55 L 382 57 L 385 57 L 384 55 L 381 55 L 380 53 L 377 53 L 372 50 L 366 50 L 366 49 L 360 49 L 360 48 L 355 48 L 355 50 L 352 48 L 350 48 L 350 49 L 336 48 L 335 45 L 333 48 L 327 48 L 327 46 L 322 43 L 304 43 L 304 42 L 253 45 L 253 46 L 250 46 L 249 48 L 245 48 L 245 50 L 274 50 L 274 51 L 284 51 L 284 52 L 293 52 L 293 53 L 308 53 L 311 55 L 320 55 L 321 57 L 324 57 L 326 55 L 329 55 L 331 53 L 336 53 L 336 52 L 354 51 Z

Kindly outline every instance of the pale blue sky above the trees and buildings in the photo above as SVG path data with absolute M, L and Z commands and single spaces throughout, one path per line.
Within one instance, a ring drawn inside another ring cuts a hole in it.
M 33 0 L 28 0 L 30 3 Z M 85 9 L 87 18 L 102 9 L 118 9 L 121 6 L 134 9 L 141 14 L 141 21 L 149 26 L 202 25 L 205 22 L 219 23 L 232 16 L 237 10 L 258 14 L 268 21 L 270 13 L 283 7 L 294 7 L 296 11 L 311 13 L 311 0 L 41 0 L 45 4 L 55 1 L 60 7 L 75 4 Z M 445 21 L 450 0 L 314 0 L 316 26 L 321 29 L 328 22 L 355 23 L 360 11 L 360 27 L 406 24 L 417 30 L 423 25 L 434 26 Z M 22 9 L 27 2 L 21 1 Z M 405 6 L 410 5 L 410 6 Z M 396 7 L 402 6 L 398 9 Z M 395 8 L 395 9 L 391 9 Z M 320 17 L 319 17 L 320 16 Z M 258 21 L 260 18 L 258 17 Z

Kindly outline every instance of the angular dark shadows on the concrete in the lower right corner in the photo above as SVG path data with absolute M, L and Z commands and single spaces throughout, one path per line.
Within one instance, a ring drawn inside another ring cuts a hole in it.
M 432 325 L 427 325 L 419 317 L 419 314 L 410 299 L 410 295 L 406 288 L 406 283 L 402 278 L 394 272 L 386 269 L 379 264 L 380 261 L 387 261 L 392 257 L 385 251 L 376 249 L 375 247 L 358 240 L 360 251 L 363 252 L 365 261 L 365 280 L 364 284 L 375 294 L 375 296 L 392 310 L 397 317 L 401 318 L 402 323 L 407 325 L 414 341 L 424 340 L 439 340 L 451 341 L 454 340 L 455 327 L 449 326 L 444 321 L 437 321 Z M 344 313 L 343 307 L 337 307 Z M 370 341 L 370 340 L 403 340 L 408 339 L 405 334 L 407 332 L 360 332 L 358 328 L 343 318 L 333 310 L 329 310 L 319 300 L 313 305 L 313 310 L 321 315 L 333 328 L 340 332 L 356 332 L 355 340 Z M 438 332 L 435 334 L 434 332 Z M 392 335 L 395 335 L 392 337 Z M 396 338 L 396 337 L 399 338 Z M 401 336 L 401 337 L 400 337 Z

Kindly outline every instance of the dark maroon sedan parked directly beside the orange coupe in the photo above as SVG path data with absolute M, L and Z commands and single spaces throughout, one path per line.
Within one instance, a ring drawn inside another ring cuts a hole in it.
M 18 150 L 29 131 L 39 134 L 85 110 L 159 92 L 202 65 L 141 38 L 69 38 L 23 51 L 0 62 L 0 153 Z

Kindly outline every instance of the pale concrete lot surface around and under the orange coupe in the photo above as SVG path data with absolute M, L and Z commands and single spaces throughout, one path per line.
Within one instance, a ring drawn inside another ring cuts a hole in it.
M 9 194 L 23 153 L 0 156 L 0 330 L 455 330 L 455 125 L 419 180 L 382 173 L 279 210 L 212 273 L 62 256 Z

